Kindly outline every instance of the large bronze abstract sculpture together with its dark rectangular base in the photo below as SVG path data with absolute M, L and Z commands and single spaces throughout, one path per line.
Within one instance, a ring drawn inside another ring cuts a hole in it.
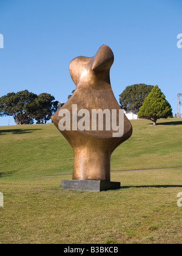
M 120 188 L 120 183 L 110 182 L 110 157 L 132 135 L 132 125 L 110 86 L 113 59 L 112 50 L 104 44 L 95 56 L 79 56 L 70 62 L 76 90 L 52 116 L 75 154 L 73 180 L 62 180 L 62 188 L 93 191 Z M 93 188 L 95 184 L 99 184 L 99 189 Z

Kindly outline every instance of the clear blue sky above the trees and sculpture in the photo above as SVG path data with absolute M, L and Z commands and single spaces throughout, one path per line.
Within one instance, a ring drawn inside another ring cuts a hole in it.
M 75 89 L 69 62 L 107 44 L 115 55 L 110 79 L 117 100 L 127 85 L 157 84 L 177 113 L 181 13 L 181 0 L 0 0 L 0 97 L 29 90 L 66 102 Z M 7 124 L 0 117 L 0 126 Z

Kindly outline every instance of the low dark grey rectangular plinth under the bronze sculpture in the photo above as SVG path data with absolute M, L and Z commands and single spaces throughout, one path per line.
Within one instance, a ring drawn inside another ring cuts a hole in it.
M 99 192 L 103 190 L 118 190 L 120 182 L 110 182 L 106 180 L 62 180 L 61 188 L 67 190 L 83 190 Z

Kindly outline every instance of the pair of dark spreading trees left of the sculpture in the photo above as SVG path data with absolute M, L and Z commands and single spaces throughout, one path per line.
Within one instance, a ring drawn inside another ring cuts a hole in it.
M 46 123 L 56 111 L 58 101 L 48 93 L 37 96 L 28 90 L 8 93 L 0 98 L 0 116 L 13 116 L 17 125 Z

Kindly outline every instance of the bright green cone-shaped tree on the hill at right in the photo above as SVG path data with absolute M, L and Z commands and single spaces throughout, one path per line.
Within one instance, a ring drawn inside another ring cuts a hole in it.
M 149 119 L 156 125 L 157 119 L 172 116 L 172 108 L 158 85 L 153 87 L 138 112 L 139 118 Z

